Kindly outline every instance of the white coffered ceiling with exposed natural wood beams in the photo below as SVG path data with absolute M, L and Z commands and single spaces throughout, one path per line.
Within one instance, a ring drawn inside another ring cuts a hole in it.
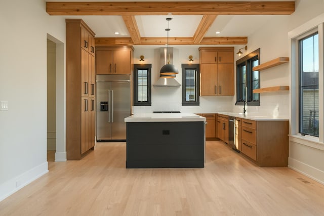
M 292 14 L 295 2 L 54 0 L 46 10 L 83 19 L 96 32 L 96 45 L 165 45 L 167 17 L 173 18 L 170 45 L 244 45 L 273 16 Z

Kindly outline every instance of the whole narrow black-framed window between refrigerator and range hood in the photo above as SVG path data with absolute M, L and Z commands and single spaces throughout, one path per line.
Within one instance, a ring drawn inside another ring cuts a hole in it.
M 134 106 L 151 106 L 151 64 L 134 64 Z

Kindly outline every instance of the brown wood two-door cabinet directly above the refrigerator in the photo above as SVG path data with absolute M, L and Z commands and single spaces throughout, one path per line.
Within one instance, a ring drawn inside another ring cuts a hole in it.
M 97 74 L 131 74 L 134 48 L 129 47 L 97 47 Z

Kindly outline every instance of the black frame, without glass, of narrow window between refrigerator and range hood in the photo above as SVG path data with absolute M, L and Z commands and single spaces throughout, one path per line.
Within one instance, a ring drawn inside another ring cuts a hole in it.
M 134 64 L 134 106 L 151 106 L 151 68 L 152 64 Z M 147 101 L 138 101 L 138 70 L 147 70 Z

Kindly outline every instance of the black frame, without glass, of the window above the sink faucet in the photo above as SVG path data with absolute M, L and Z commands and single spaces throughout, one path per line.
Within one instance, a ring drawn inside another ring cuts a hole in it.
M 240 101 L 243 97 L 243 92 L 241 89 L 242 85 L 242 74 L 241 74 L 241 68 L 242 66 L 246 66 L 246 84 L 248 88 L 248 95 L 247 95 L 247 105 L 248 106 L 260 106 L 260 93 L 258 94 L 259 100 L 253 99 L 253 62 L 259 60 L 260 64 L 260 48 L 253 51 L 252 53 L 249 53 L 248 55 L 244 56 L 241 59 L 238 59 L 236 61 L 236 105 L 244 105 L 244 102 Z M 260 88 L 260 71 L 258 71 L 258 77 L 259 77 L 259 88 Z

